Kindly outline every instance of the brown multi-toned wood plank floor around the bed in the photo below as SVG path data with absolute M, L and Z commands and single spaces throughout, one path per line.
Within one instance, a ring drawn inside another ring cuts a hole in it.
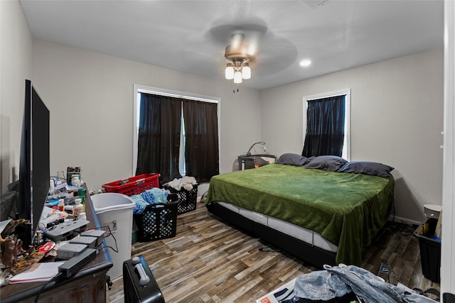
M 255 302 L 294 277 L 318 270 L 215 218 L 198 203 L 195 211 L 178 215 L 176 237 L 132 245 L 132 256 L 144 256 L 167 303 Z M 398 227 L 387 224 L 363 252 L 363 268 L 377 274 L 385 262 L 404 285 L 439 290 L 422 275 L 412 228 Z M 113 281 L 107 300 L 124 302 L 122 277 Z

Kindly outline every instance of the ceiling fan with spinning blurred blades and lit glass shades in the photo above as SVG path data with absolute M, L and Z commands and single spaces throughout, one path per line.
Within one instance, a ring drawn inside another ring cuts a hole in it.
M 234 79 L 234 84 L 252 76 L 273 75 L 294 63 L 296 47 L 269 31 L 263 22 L 254 22 L 212 26 L 202 35 L 189 37 L 182 56 L 201 74 Z

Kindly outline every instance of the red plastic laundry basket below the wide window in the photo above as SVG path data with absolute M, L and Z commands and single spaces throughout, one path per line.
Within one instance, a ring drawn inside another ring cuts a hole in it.
M 132 196 L 133 194 L 140 194 L 152 187 L 159 187 L 159 173 L 151 172 L 149 174 L 142 174 L 130 177 L 127 180 L 117 180 L 102 184 L 105 192 L 117 192 L 118 194 L 126 194 Z

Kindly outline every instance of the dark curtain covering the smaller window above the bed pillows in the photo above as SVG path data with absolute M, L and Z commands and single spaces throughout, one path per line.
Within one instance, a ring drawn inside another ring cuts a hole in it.
M 345 95 L 308 101 L 306 111 L 306 157 L 343 153 Z

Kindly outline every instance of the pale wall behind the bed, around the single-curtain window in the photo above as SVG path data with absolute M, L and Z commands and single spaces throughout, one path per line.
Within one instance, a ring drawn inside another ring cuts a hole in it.
M 264 90 L 262 140 L 277 155 L 301 153 L 302 98 L 351 89 L 351 160 L 395 167 L 396 215 L 421 222 L 423 204 L 441 204 L 443 55 L 430 50 Z

